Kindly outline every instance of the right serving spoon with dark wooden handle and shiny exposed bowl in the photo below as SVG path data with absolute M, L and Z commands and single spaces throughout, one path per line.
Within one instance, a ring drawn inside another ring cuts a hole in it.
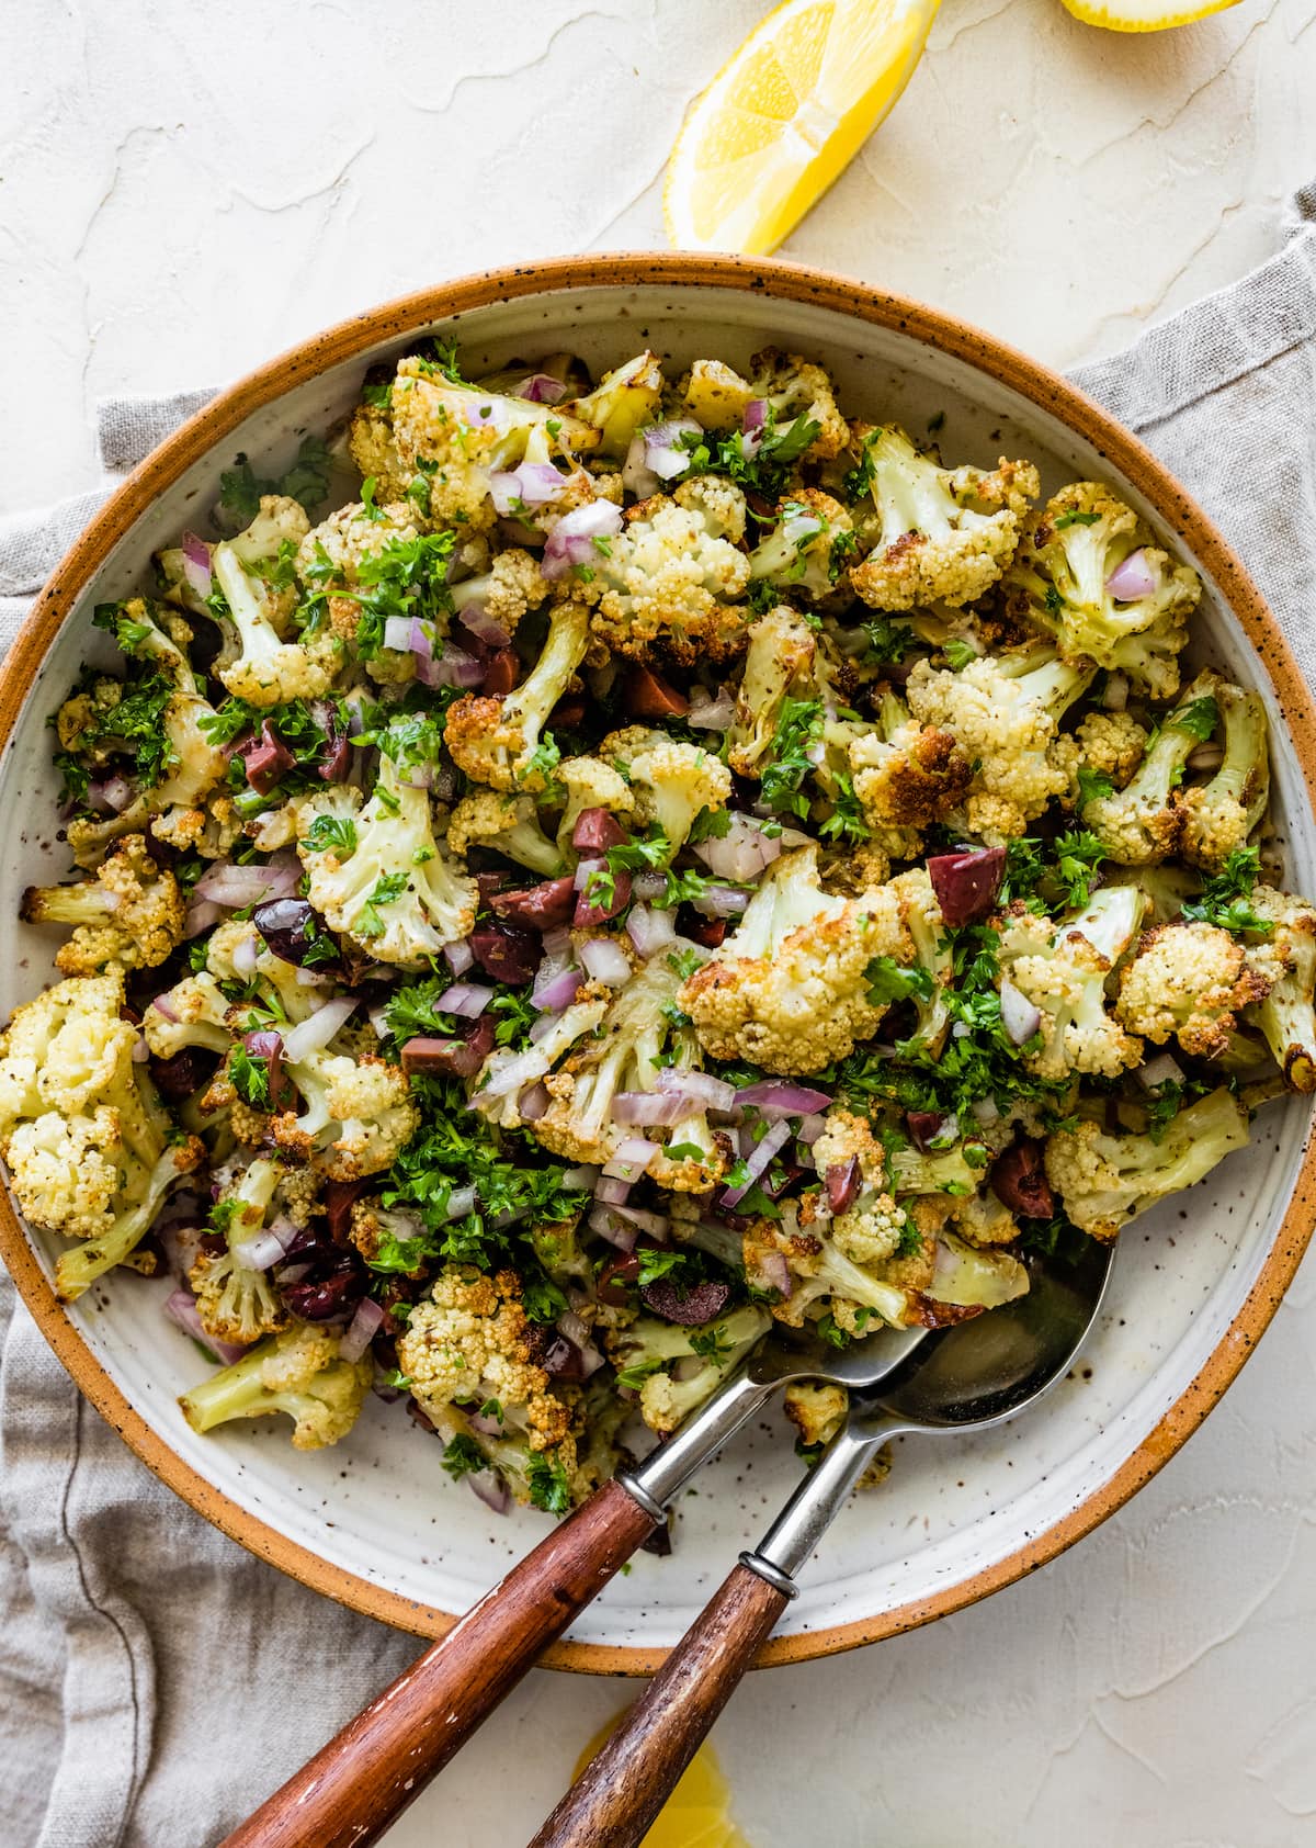
M 637 1848 L 880 1447 L 987 1430 L 1034 1406 L 1093 1327 L 1111 1260 L 1113 1246 L 1096 1242 L 1074 1264 L 1030 1260 L 1028 1295 L 932 1334 L 851 1404 L 759 1549 L 740 1554 L 530 1848 Z

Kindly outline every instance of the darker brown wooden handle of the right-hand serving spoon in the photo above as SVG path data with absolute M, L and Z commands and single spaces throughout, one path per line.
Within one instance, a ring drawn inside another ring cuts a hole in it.
M 637 1848 L 786 1602 L 733 1567 L 530 1848 Z

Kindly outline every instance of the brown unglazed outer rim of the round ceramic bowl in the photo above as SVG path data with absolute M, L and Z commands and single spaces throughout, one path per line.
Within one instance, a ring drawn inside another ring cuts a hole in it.
M 1187 541 L 1214 580 L 1224 602 L 1270 675 L 1307 787 L 1316 791 L 1316 704 L 1312 704 L 1279 625 L 1242 562 L 1202 508 L 1168 469 L 1106 410 L 1059 373 L 1015 351 L 993 334 L 904 296 L 794 262 L 672 251 L 556 257 L 485 270 L 436 288 L 417 290 L 303 340 L 218 394 L 133 469 L 55 567 L 0 673 L 0 750 L 13 732 L 46 650 L 111 547 L 131 530 L 164 488 L 218 447 L 253 410 L 282 395 L 293 384 L 365 353 L 380 342 L 473 309 L 568 288 L 640 285 L 729 288 L 772 299 L 816 303 L 838 314 L 908 334 L 936 351 L 965 360 L 1083 436 L 1146 495 L 1148 503 Z M 1257 1345 L 1310 1238 L 1314 1183 L 1316 1149 L 1309 1138 L 1292 1199 L 1242 1308 L 1194 1380 L 1179 1393 L 1155 1429 L 1078 1508 L 1008 1558 L 984 1567 L 962 1584 L 947 1586 L 930 1599 L 914 1600 L 855 1623 L 773 1637 L 766 1643 L 759 1665 L 812 1661 L 945 1617 L 1054 1560 L 1115 1514 L 1192 1436 Z M 423 1637 L 443 1635 L 456 1623 L 456 1613 L 419 1604 L 375 1586 L 345 1567 L 330 1565 L 310 1549 L 290 1541 L 257 1515 L 242 1510 L 185 1464 L 133 1410 L 92 1355 L 68 1312 L 55 1301 L 6 1190 L 0 1190 L 0 1257 L 4 1257 L 37 1325 L 79 1390 L 148 1469 L 190 1502 L 197 1514 L 292 1578 L 380 1623 L 412 1630 Z M 541 1660 L 546 1667 L 572 1669 L 583 1674 L 652 1674 L 664 1654 L 664 1648 L 561 1641 Z

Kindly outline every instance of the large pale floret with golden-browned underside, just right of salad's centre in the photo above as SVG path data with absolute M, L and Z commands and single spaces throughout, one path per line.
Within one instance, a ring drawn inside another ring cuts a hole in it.
M 869 998 L 875 955 L 914 961 L 899 894 L 840 898 L 818 883 L 818 848 L 783 854 L 738 928 L 688 978 L 679 1005 L 714 1059 L 770 1072 L 820 1072 L 886 1013 Z

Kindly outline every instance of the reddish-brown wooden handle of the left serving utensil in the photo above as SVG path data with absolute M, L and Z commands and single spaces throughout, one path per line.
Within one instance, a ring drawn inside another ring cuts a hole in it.
M 653 1526 L 605 1482 L 220 1848 L 378 1841 Z

